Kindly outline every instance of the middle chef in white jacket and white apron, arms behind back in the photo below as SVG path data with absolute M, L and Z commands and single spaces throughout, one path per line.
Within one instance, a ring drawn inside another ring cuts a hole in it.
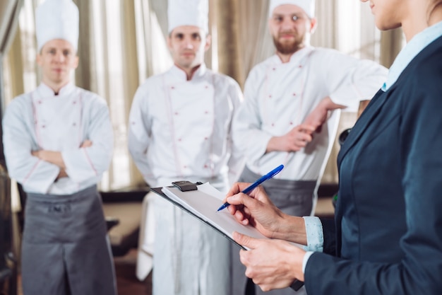
M 226 191 L 243 167 L 231 129 L 241 89 L 203 62 L 208 0 L 169 0 L 168 17 L 174 66 L 136 91 L 129 150 L 151 187 L 190 180 Z M 228 294 L 229 241 L 161 197 L 154 205 L 153 294 Z

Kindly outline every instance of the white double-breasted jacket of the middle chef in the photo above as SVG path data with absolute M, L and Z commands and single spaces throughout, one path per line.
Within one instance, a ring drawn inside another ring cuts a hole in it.
M 133 98 L 129 151 L 153 187 L 179 178 L 226 184 L 228 174 L 234 180 L 241 173 L 242 156 L 231 130 L 241 89 L 204 64 L 186 80 L 186 73 L 172 66 L 145 81 Z

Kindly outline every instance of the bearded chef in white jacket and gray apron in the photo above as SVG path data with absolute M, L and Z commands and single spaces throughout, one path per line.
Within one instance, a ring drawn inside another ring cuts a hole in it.
M 263 187 L 277 207 L 297 216 L 309 216 L 314 209 L 315 187 L 334 139 L 329 138 L 334 132 L 327 124 L 337 126 L 327 121 L 329 111 L 357 110 L 359 101 L 370 99 L 387 74 L 374 62 L 311 47 L 314 8 L 314 0 L 270 0 L 269 28 L 276 53 L 251 69 L 244 103 L 234 119 L 234 139 L 246 156 L 240 180 L 251 183 L 284 164 Z M 246 269 L 237 250 L 232 251 L 232 265 L 232 294 L 244 294 Z M 263 293 L 251 281 L 248 284 L 249 291 Z

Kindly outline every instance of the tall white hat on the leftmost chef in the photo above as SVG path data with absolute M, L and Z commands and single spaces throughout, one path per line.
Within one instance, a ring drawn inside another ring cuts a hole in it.
M 78 7 L 72 0 L 46 0 L 35 11 L 38 51 L 48 41 L 63 39 L 78 47 Z

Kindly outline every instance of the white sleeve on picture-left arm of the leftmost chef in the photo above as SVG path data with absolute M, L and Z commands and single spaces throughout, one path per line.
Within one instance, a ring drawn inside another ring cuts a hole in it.
M 32 156 L 39 147 L 26 125 L 30 106 L 16 98 L 6 109 L 3 119 L 3 144 L 8 174 L 32 192 L 47 193 L 59 175 L 60 168 Z M 32 120 L 32 118 L 31 118 Z

